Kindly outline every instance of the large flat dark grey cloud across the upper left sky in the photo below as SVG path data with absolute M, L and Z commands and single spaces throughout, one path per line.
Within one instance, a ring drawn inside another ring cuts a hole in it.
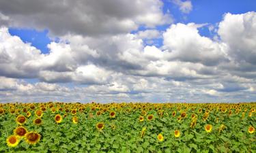
M 102 35 L 129 33 L 139 25 L 155 27 L 172 22 L 162 1 L 0 1 L 0 22 L 9 27 L 49 29 L 66 33 Z

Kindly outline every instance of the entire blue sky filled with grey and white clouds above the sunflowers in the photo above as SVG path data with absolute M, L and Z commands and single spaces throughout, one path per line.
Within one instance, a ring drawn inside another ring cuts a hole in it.
M 256 101 L 253 0 L 2 0 L 0 101 Z

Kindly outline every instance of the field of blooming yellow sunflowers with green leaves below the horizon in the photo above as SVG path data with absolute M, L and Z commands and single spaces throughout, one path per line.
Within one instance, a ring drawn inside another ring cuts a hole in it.
M 0 103 L 0 152 L 256 152 L 256 103 Z

